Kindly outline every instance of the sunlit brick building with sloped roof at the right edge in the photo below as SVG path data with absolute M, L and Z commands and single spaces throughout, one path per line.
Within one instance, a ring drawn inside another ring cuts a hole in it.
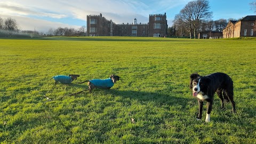
M 255 37 L 256 15 L 247 15 L 238 21 L 229 21 L 223 29 L 223 38 L 233 37 Z

